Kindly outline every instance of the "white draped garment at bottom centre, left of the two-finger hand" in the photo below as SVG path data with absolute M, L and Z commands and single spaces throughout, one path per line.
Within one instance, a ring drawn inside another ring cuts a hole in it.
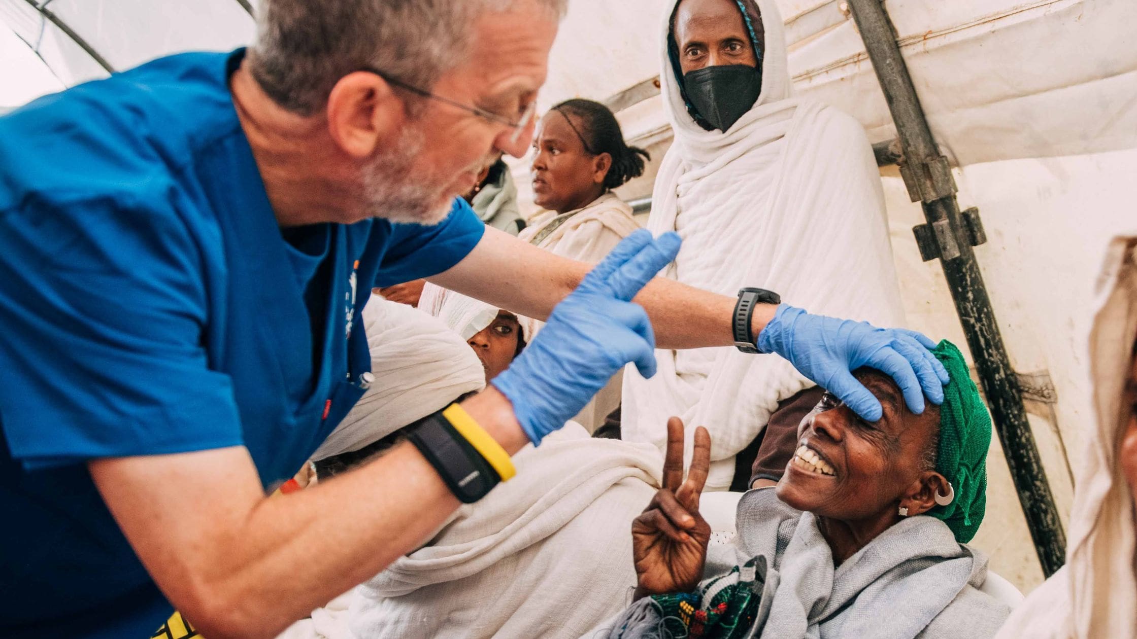
M 623 609 L 631 521 L 658 487 L 659 453 L 570 422 L 514 465 L 516 478 L 356 589 L 348 637 L 570 638 Z

